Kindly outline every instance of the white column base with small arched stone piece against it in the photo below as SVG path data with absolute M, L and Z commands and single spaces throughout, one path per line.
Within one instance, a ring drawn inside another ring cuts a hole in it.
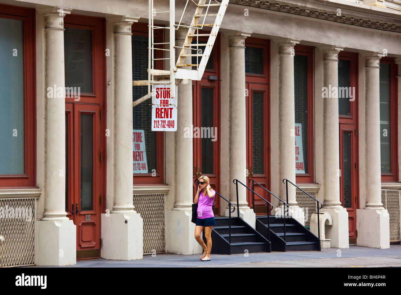
M 345 208 L 322 208 L 321 213 L 331 216 L 332 225 L 325 226 L 325 238 L 330 239 L 330 248 L 349 248 L 348 212 Z M 317 226 L 317 225 L 316 225 Z

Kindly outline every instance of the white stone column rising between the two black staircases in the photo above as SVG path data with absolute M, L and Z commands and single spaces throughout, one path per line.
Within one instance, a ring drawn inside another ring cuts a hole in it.
M 250 34 L 239 33 L 229 36 L 230 46 L 230 201 L 237 207 L 237 189 L 233 183 L 238 179 L 248 185 L 246 170 L 246 100 L 245 100 L 245 39 Z M 239 208 L 231 216 L 239 216 L 255 228 L 255 213 L 249 208 L 247 191 L 238 184 Z M 225 215 L 229 215 L 226 209 Z

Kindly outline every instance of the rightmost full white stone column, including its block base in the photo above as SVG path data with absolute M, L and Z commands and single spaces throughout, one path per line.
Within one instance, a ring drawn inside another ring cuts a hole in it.
M 389 213 L 381 202 L 380 161 L 380 59 L 382 53 L 365 57 L 366 74 L 366 204 L 356 210 L 359 246 L 390 248 Z

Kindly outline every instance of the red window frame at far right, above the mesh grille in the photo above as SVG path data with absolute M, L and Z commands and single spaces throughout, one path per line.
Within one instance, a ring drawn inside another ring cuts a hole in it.
M 391 173 L 381 173 L 382 182 L 398 182 L 398 65 L 391 57 L 382 57 L 380 63 L 390 64 L 390 146 Z

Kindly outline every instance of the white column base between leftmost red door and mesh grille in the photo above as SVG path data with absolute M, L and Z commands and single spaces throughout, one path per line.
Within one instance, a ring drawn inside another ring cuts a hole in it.
M 101 257 L 115 260 L 142 259 L 143 227 L 143 219 L 138 213 L 101 214 Z

